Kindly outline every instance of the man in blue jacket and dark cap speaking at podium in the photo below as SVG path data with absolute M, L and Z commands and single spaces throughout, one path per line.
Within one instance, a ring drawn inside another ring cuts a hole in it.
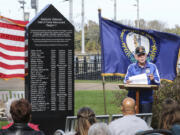
M 129 65 L 124 79 L 124 83 L 159 85 L 160 77 L 157 67 L 155 64 L 148 62 L 146 60 L 147 54 L 143 46 L 138 46 L 135 49 L 135 58 L 137 62 Z M 132 97 L 135 99 L 136 97 L 135 91 L 129 90 L 128 97 Z M 151 113 L 152 103 L 153 103 L 153 90 L 141 91 L 140 113 Z

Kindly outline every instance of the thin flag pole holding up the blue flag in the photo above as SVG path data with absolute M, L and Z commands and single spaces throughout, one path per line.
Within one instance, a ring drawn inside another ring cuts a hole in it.
M 102 38 L 102 35 L 101 35 L 101 9 L 98 9 L 98 15 L 99 15 L 99 33 L 100 33 L 100 38 Z M 100 40 L 100 44 L 101 44 L 101 47 L 102 47 L 102 41 Z M 102 48 L 101 48 L 102 49 Z M 101 56 L 102 56 L 102 52 L 101 52 Z M 101 64 L 103 65 L 103 57 L 101 57 Z M 103 71 L 103 70 L 102 70 Z M 105 77 L 102 76 L 102 85 L 103 85 L 103 98 L 104 98 L 104 113 L 107 114 L 107 110 L 106 110 L 106 91 L 105 91 Z

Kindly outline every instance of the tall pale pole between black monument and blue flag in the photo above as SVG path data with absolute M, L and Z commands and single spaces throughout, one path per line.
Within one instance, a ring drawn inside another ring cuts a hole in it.
M 81 53 L 85 53 L 85 45 L 84 45 L 84 0 L 82 0 L 82 22 L 81 22 L 81 28 L 82 28 L 82 46 L 81 46 Z

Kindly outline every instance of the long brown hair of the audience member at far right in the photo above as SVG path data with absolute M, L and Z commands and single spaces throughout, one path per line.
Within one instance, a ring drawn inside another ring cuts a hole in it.
M 159 120 L 159 128 L 170 129 L 175 119 L 174 110 L 177 107 L 177 102 L 171 98 L 167 98 L 162 103 L 162 112 Z

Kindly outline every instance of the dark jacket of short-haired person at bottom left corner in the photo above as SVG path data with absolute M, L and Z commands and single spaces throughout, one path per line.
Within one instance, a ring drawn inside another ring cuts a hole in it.
M 14 123 L 10 128 L 0 130 L 0 135 L 44 135 L 44 133 L 33 130 L 27 123 Z

